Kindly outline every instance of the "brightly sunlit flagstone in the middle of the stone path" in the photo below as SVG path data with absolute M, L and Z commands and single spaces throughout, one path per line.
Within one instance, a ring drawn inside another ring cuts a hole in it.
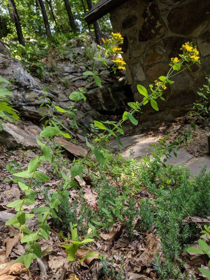
M 129 149 L 127 149 L 124 153 L 123 153 L 123 156 L 125 158 L 128 158 L 128 157 L 132 157 L 132 158 L 137 158 L 139 156 L 145 156 L 146 154 L 150 154 L 150 151 L 148 151 L 150 147 L 150 143 L 152 141 L 147 141 L 147 142 L 139 142 L 135 145 L 133 145 L 132 147 L 130 147 Z M 157 142 L 152 142 L 152 143 L 156 143 Z M 132 152 L 132 156 L 130 156 L 130 152 Z

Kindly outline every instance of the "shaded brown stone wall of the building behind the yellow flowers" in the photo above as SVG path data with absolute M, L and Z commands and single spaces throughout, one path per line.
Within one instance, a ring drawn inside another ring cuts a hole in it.
M 190 108 L 196 91 L 210 74 L 210 5 L 209 0 L 129 0 L 110 14 L 114 32 L 124 37 L 123 57 L 134 100 L 141 100 L 137 84 L 143 86 L 165 75 L 171 57 L 177 56 L 187 41 L 198 46 L 201 67 L 174 77 L 167 85 L 166 101 L 159 101 L 157 119 L 172 120 Z M 144 108 L 151 119 L 154 110 Z M 144 118 L 145 118 L 144 117 Z

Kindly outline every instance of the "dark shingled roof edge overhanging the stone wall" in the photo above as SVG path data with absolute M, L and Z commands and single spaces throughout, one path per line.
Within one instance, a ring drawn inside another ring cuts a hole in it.
M 91 24 L 127 1 L 128 0 L 99 0 L 83 19 L 88 24 Z

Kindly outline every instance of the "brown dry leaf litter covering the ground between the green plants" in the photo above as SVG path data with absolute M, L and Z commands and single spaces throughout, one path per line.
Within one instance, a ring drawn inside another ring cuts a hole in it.
M 189 119 L 186 116 L 175 119 L 172 124 L 161 123 L 159 127 L 156 127 L 155 130 L 151 131 L 142 131 L 144 141 L 154 142 L 158 138 L 170 134 L 170 131 L 173 130 L 173 134 L 169 135 L 168 141 L 174 141 L 176 137 L 181 136 L 182 132 L 185 129 L 189 129 Z M 200 158 L 206 156 L 208 154 L 208 143 L 207 136 L 209 135 L 209 120 L 205 123 L 200 123 L 197 126 L 197 129 L 192 132 L 193 134 L 193 142 L 190 142 L 187 147 L 185 147 L 186 151 L 192 155 L 192 158 Z M 141 138 L 140 142 L 141 142 Z M 131 147 L 129 147 L 129 141 L 127 147 L 125 147 L 121 152 L 125 152 L 135 147 L 138 144 L 133 143 Z M 148 146 L 149 147 L 149 146 Z M 2 180 L 6 178 L 11 178 L 11 174 L 5 168 L 5 163 L 12 164 L 12 160 L 16 160 L 18 158 L 17 163 L 21 165 L 24 169 L 27 167 L 30 159 L 35 156 L 37 151 L 26 151 L 24 149 L 16 149 L 13 151 L 8 151 L 4 147 L 1 147 L 1 155 L 0 155 L 0 166 L 1 166 L 1 175 Z M 135 157 L 135 156 L 134 156 Z M 68 157 L 63 156 L 64 162 L 68 162 Z M 138 172 L 138 164 L 141 157 L 137 157 L 135 163 L 132 163 L 129 168 L 136 169 Z M 191 162 L 191 161 L 190 161 Z M 114 163 L 117 165 L 117 161 Z M 129 160 L 123 160 L 121 162 L 121 168 L 130 164 Z M 177 158 L 177 163 L 179 163 L 179 157 Z M 180 162 L 183 163 L 183 162 Z M 40 166 L 40 170 L 47 172 L 50 176 L 50 183 L 44 184 L 43 188 L 47 189 L 48 192 L 52 192 L 57 189 L 58 184 L 61 179 L 59 179 L 54 174 L 54 168 L 48 164 L 44 163 L 43 166 Z M 100 175 L 99 171 L 93 170 L 95 172 L 96 181 L 99 180 Z M 135 171 L 134 171 L 135 173 Z M 122 174 L 121 174 L 122 175 Z M 126 177 L 127 175 L 124 174 Z M 96 182 L 90 178 L 90 176 L 86 173 L 83 176 L 83 181 L 77 178 L 77 184 L 79 188 L 82 188 L 82 192 L 85 198 L 85 203 L 87 206 L 93 211 L 98 211 L 98 193 L 95 189 Z M 107 174 L 107 179 L 109 179 L 109 184 L 111 187 L 116 188 L 119 193 L 122 193 L 123 180 L 122 178 L 116 181 L 111 180 L 111 177 Z M 2 246 L 0 249 L 0 259 L 5 261 L 6 269 L 11 266 L 12 260 L 19 257 L 24 253 L 24 244 L 20 243 L 20 236 L 18 235 L 18 231 L 14 229 L 12 226 L 5 226 L 5 222 L 8 218 L 15 216 L 14 208 L 7 208 L 6 205 L 9 202 L 17 198 L 22 197 L 22 191 L 18 188 L 18 185 L 12 180 L 8 180 L 6 183 L 0 182 L 0 231 L 1 231 L 1 242 Z M 127 183 L 129 180 L 127 181 Z M 129 182 L 130 185 L 131 182 Z M 43 190 L 44 190 L 43 189 Z M 45 206 L 46 201 L 43 195 L 40 195 L 40 189 L 35 189 L 39 194 L 38 197 L 38 205 Z M 139 205 L 144 198 L 149 198 L 152 200 L 154 198 L 153 194 L 150 194 L 144 185 L 139 186 L 138 189 L 132 191 L 134 194 L 134 208 L 138 209 Z M 131 194 L 128 195 L 129 197 Z M 80 216 L 81 210 L 81 195 L 78 196 L 75 190 L 70 191 L 69 196 L 69 205 L 70 211 L 71 207 L 73 207 L 73 203 L 75 199 L 78 199 L 78 207 L 76 213 L 77 216 Z M 128 204 L 125 201 L 125 205 Z M 27 213 L 31 212 L 31 208 L 35 207 L 35 205 L 26 206 L 25 211 Z M 68 210 L 69 208 L 67 208 Z M 68 210 L 69 211 L 69 210 Z M 189 217 L 186 217 L 189 219 Z M 32 229 L 36 229 L 38 224 L 36 219 L 30 220 L 29 227 Z M 159 252 L 161 256 L 161 261 L 164 261 L 165 257 L 162 254 L 161 249 L 161 240 L 157 235 L 157 231 L 155 227 L 152 227 L 152 230 L 139 232 L 138 231 L 138 223 L 139 218 L 134 219 L 134 230 L 132 239 L 128 238 L 127 232 L 124 229 L 123 222 L 116 221 L 112 228 L 108 231 L 102 230 L 99 232 L 99 237 L 96 238 L 95 241 L 91 242 L 87 247 L 81 247 L 76 254 L 76 259 L 73 262 L 69 262 L 67 260 L 67 253 L 65 250 L 59 246 L 60 243 L 63 242 L 64 237 L 58 235 L 60 230 L 63 230 L 63 235 L 66 236 L 68 233 L 68 228 L 62 229 L 62 226 L 56 226 L 54 220 L 52 218 L 48 221 L 50 223 L 51 235 L 48 241 L 41 240 L 40 245 L 43 252 L 43 257 L 41 260 L 34 260 L 29 268 L 29 270 L 22 268 L 19 266 L 18 268 L 14 268 L 13 274 L 18 274 L 21 279 L 145 279 L 145 280 L 156 280 L 158 278 L 154 267 L 153 267 L 153 259 L 157 252 Z M 199 224 L 199 219 L 198 219 Z M 197 245 L 196 245 L 197 246 Z M 89 251 L 96 251 L 96 254 L 93 257 L 86 258 L 84 261 L 80 261 L 85 254 Z M 100 255 L 103 255 L 104 258 L 108 257 L 108 259 L 101 260 Z M 121 261 L 122 256 L 124 256 L 123 262 Z M 182 273 L 186 274 L 188 271 L 190 274 L 198 275 L 197 267 L 206 264 L 206 261 L 203 259 L 202 255 L 193 254 L 193 253 L 184 253 L 180 255 L 180 259 L 184 260 L 186 264 L 182 268 Z M 107 268 L 106 268 L 107 266 Z M 2 268 L 2 267 L 1 267 Z M 15 270 L 16 269 L 16 270 Z M 112 269 L 112 272 L 110 272 Z M 121 271 L 122 270 L 122 271 Z M 122 272 L 122 273 L 121 273 Z M 11 275 L 11 271 L 9 275 Z M 115 273 L 115 276 L 113 274 Z M 44 276 L 46 274 L 47 276 Z M 122 274 L 122 275 L 121 275 Z M 6 275 L 6 274 L 5 274 Z M 121 276 L 120 276 L 121 275 Z M 201 274 L 200 274 L 201 275 Z M 13 276 L 7 276 L 5 279 L 20 279 L 20 278 L 12 278 Z M 15 276 L 16 277 L 16 276 Z M 118 278 L 119 277 L 119 278 Z M 120 278 L 122 277 L 122 278 Z M 123 278 L 124 277 L 124 278 Z M 201 276 L 198 276 L 201 278 Z

